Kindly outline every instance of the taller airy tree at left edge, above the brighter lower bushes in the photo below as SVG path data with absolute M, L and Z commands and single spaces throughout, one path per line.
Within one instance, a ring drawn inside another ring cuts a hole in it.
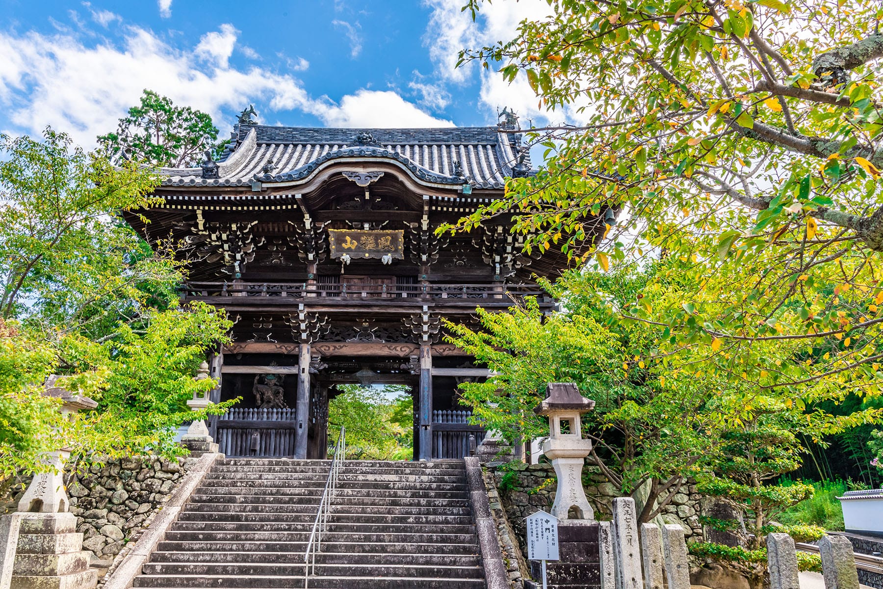
M 2 136 L 0 315 L 45 331 L 100 330 L 147 298 L 141 284 L 175 281 L 168 257 L 133 255 L 143 242 L 112 216 L 157 204 L 147 195 L 157 181 L 51 129 L 42 141 Z

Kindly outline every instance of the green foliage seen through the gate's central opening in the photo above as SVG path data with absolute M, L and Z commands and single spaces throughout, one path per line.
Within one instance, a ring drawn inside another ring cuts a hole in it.
M 336 442 L 346 427 L 347 457 L 357 460 L 408 460 L 413 454 L 413 407 L 407 388 L 338 385 L 328 402 L 328 435 Z M 389 399 L 389 393 L 398 393 Z

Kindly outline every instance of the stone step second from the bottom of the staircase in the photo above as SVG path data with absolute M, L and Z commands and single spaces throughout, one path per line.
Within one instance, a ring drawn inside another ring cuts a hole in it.
M 320 564 L 311 566 L 311 573 L 321 577 L 422 577 L 422 578 L 480 578 L 484 573 L 479 566 L 457 566 L 455 564 Z M 296 577 L 304 574 L 304 563 L 145 563 L 142 575 L 163 575 L 169 577 L 205 575 L 208 577 Z

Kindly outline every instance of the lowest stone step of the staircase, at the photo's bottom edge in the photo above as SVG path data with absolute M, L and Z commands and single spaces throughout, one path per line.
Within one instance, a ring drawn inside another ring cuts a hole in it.
M 189 589 L 190 587 L 219 587 L 223 589 L 297 589 L 304 586 L 303 575 L 298 577 L 209 577 L 141 575 L 135 578 L 136 587 Z M 310 577 L 311 589 L 484 589 L 484 578 L 374 578 L 374 577 Z

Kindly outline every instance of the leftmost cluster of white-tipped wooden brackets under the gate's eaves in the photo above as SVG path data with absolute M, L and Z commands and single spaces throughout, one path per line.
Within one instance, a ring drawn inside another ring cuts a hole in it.
M 205 223 L 200 219 L 190 225 L 195 235 L 185 241 L 195 247 L 196 254 L 214 263 L 223 261 L 224 268 L 219 274 L 229 274 L 236 278 L 245 270 L 245 264 L 253 261 L 255 248 L 264 243 L 264 238 L 255 238 L 252 228 L 257 221 L 238 223 Z

